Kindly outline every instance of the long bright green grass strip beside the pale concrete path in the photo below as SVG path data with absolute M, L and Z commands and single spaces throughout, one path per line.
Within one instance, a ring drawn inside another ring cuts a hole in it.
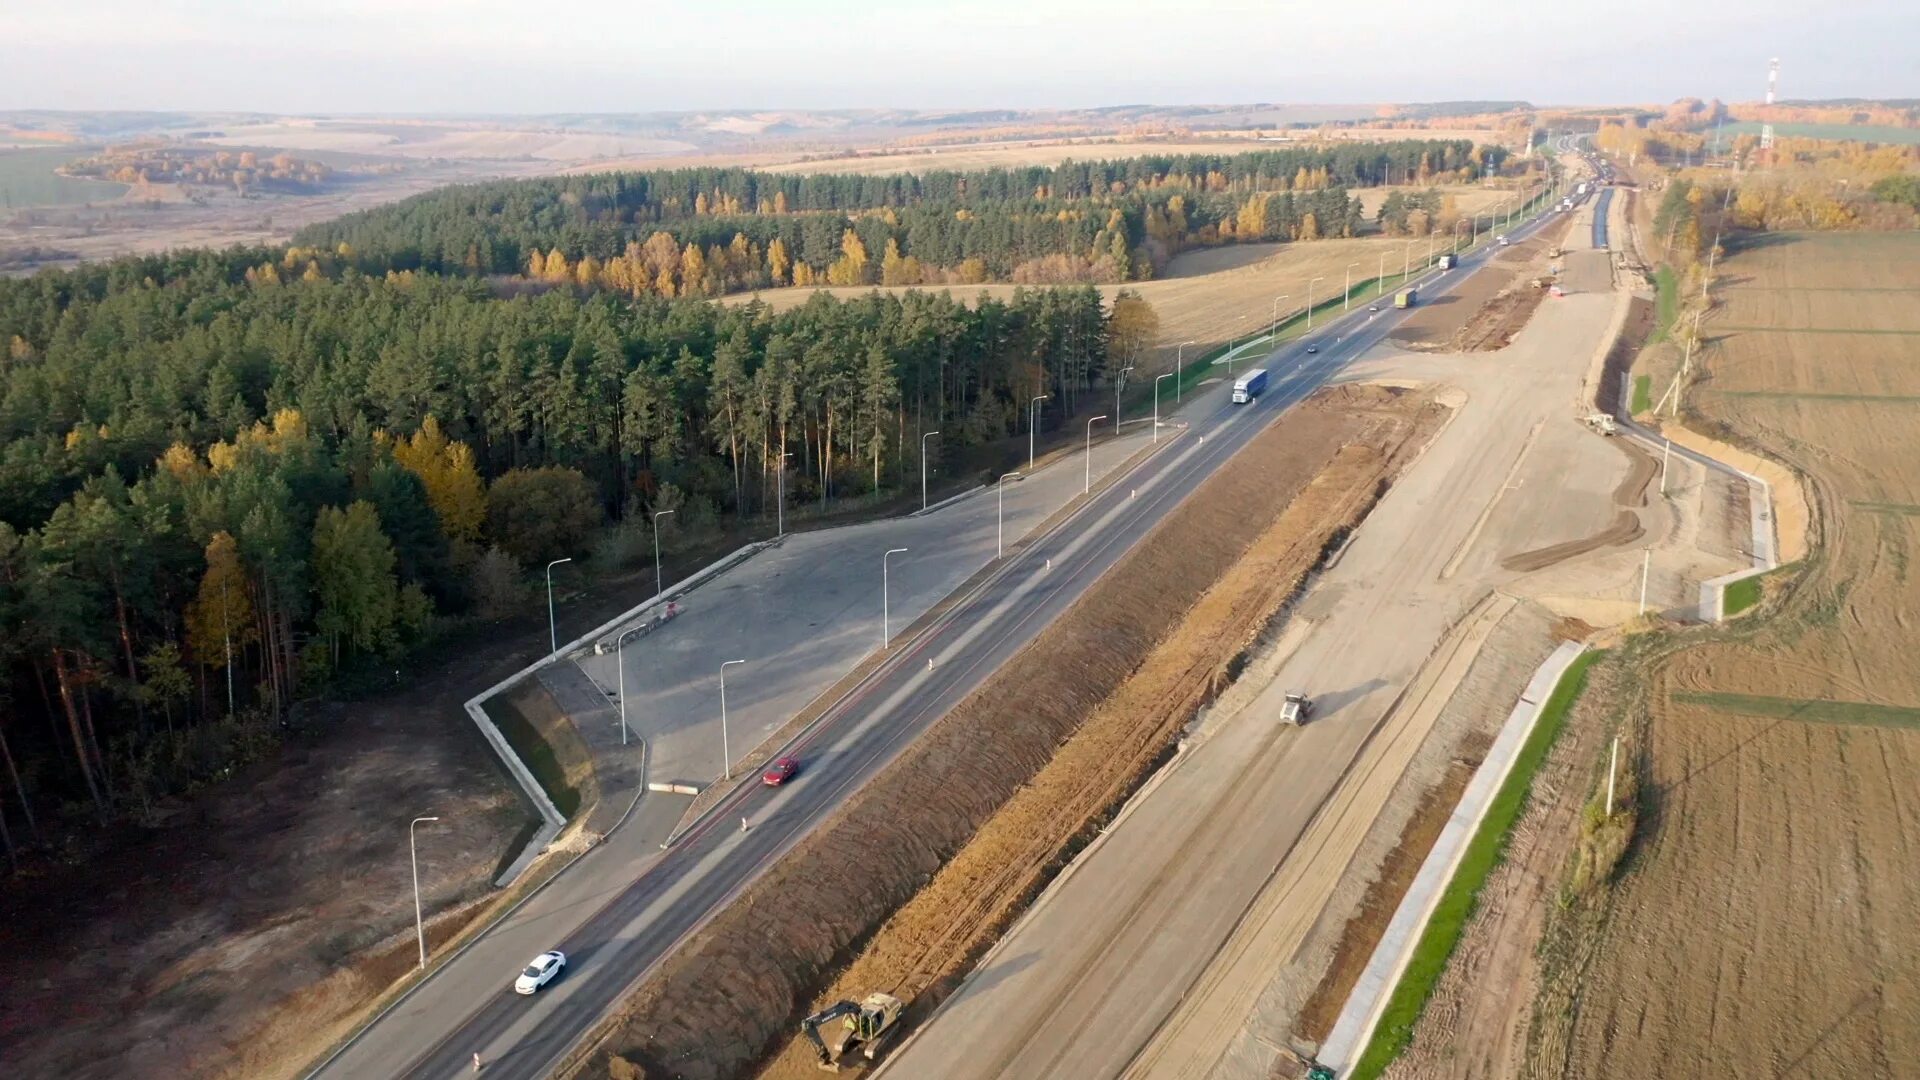
M 1373 1028 L 1373 1038 L 1367 1042 L 1367 1051 L 1359 1055 L 1359 1061 L 1348 1072 L 1348 1080 L 1377 1078 L 1413 1042 L 1413 1026 L 1427 1009 L 1427 999 L 1432 997 L 1440 974 L 1446 970 L 1448 957 L 1453 955 L 1467 920 L 1473 919 L 1473 911 L 1480 903 L 1480 890 L 1486 886 L 1488 874 L 1494 872 L 1494 867 L 1507 853 L 1513 824 L 1519 822 L 1521 811 L 1526 809 L 1534 773 L 1540 771 L 1540 763 L 1553 749 L 1553 740 L 1567 726 L 1567 717 L 1572 713 L 1574 701 L 1586 690 L 1586 671 L 1601 655 L 1605 653 L 1594 650 L 1580 653 L 1567 665 L 1567 673 L 1561 675 L 1553 694 L 1548 696 L 1548 703 L 1540 709 L 1540 719 L 1534 721 L 1534 730 L 1526 734 L 1526 742 L 1513 761 L 1513 771 L 1507 773 L 1507 780 L 1494 794 L 1480 828 L 1467 842 L 1467 851 L 1459 859 L 1459 869 L 1453 871 L 1453 880 L 1440 894 L 1440 903 L 1434 905 L 1427 928 L 1421 930 L 1421 940 L 1413 945 L 1407 970 L 1400 974 L 1392 997 L 1386 999 L 1386 1011 L 1380 1013 L 1380 1022 Z

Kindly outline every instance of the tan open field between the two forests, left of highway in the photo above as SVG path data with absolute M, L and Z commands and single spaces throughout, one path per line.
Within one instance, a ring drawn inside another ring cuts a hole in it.
M 1187 359 L 1206 350 L 1229 344 L 1229 338 L 1267 327 L 1273 319 L 1275 296 L 1286 294 L 1281 302 L 1281 315 L 1288 309 L 1300 311 L 1311 279 L 1323 279 L 1313 286 L 1317 302 L 1329 296 L 1338 298 L 1344 286 L 1346 267 L 1354 265 L 1354 294 L 1359 296 L 1359 282 L 1373 281 L 1380 269 L 1380 256 L 1386 256 L 1386 273 L 1400 273 L 1407 252 L 1405 240 L 1361 238 L 1361 240 L 1313 240 L 1304 244 L 1233 244 L 1225 248 L 1206 248 L 1187 252 L 1173 259 L 1167 273 L 1154 281 L 1127 284 L 1102 284 L 1100 294 L 1108 300 L 1121 288 L 1131 288 L 1144 296 L 1160 315 L 1160 350 L 1152 371 L 1171 371 L 1175 346 L 1187 346 Z M 1425 259 L 1425 240 L 1413 252 L 1415 267 Z M 726 304 L 743 304 L 758 298 L 776 311 L 799 307 L 814 292 L 831 292 L 839 298 L 864 296 L 868 292 L 906 292 L 908 288 L 947 290 L 956 298 L 973 302 L 987 294 L 1008 298 L 1016 288 L 1035 288 L 1018 284 L 916 284 L 895 288 L 874 286 L 828 286 L 828 288 L 774 288 L 768 292 L 741 292 L 724 298 Z M 1135 375 L 1139 379 L 1139 375 Z

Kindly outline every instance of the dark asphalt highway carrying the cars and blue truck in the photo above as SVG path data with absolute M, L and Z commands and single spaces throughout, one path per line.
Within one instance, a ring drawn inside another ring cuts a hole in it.
M 1521 238 L 1536 227 L 1532 221 L 1511 234 Z M 1484 259 L 1486 252 L 1465 256 L 1453 271 L 1430 271 L 1413 284 L 1423 300 L 1444 296 Z M 1052 530 L 1014 550 L 972 596 L 900 646 L 893 661 L 810 728 L 804 746 L 795 748 L 806 761 L 801 776 L 783 788 L 743 786 L 660 861 L 605 899 L 578 930 L 553 942 L 551 947 L 570 961 L 553 986 L 522 997 L 511 990 L 513 970 L 501 970 L 488 986 L 428 978 L 417 994 L 465 994 L 474 1011 L 424 1055 L 378 1063 L 376 1074 L 470 1076 L 474 1053 L 484 1055 L 488 1080 L 551 1072 L 682 940 L 1031 642 L 1273 417 L 1379 344 L 1402 317 L 1384 302 L 1377 313 L 1356 307 L 1313 336 L 1290 342 L 1260 361 L 1269 369 L 1269 390 L 1254 404 L 1229 404 L 1227 379 L 1190 392 L 1187 427 L 1162 430 L 1167 446 Z M 1308 354 L 1308 342 L 1317 352 Z M 751 819 L 751 828 L 739 828 L 741 817 Z M 549 888 L 566 888 L 564 874 Z M 405 1024 L 409 1015 L 396 1009 L 376 1022 Z M 315 1076 L 369 1074 L 367 1061 L 349 1059 L 336 1057 Z

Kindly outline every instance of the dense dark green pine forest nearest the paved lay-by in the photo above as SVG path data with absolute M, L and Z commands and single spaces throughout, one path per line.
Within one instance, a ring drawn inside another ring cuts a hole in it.
M 1139 350 L 1114 307 L 501 298 L 240 248 L 0 281 L 0 836 L 217 780 L 524 569 L 651 557 L 655 509 L 672 550 L 910 486 L 924 430 L 1058 421 Z

